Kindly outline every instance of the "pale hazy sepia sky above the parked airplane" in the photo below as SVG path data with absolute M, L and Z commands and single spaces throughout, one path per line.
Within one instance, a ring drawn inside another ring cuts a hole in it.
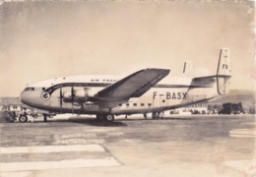
M 182 76 L 184 61 L 217 71 L 230 50 L 230 89 L 255 89 L 254 3 L 249 1 L 0 2 L 0 96 L 73 75 Z

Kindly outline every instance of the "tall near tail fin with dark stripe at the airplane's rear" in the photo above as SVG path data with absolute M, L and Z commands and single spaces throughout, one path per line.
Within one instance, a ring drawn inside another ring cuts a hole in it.
M 229 90 L 230 71 L 229 50 L 222 48 L 217 68 L 217 90 L 221 95 L 226 94 Z

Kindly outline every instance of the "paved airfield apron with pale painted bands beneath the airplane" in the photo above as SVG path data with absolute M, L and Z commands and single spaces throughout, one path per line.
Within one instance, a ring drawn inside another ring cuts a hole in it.
M 0 124 L 0 176 L 256 176 L 253 115 Z

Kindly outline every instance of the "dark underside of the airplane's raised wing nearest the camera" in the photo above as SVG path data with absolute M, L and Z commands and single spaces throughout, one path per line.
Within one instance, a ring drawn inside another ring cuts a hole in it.
M 165 69 L 141 70 L 98 91 L 94 97 L 102 101 L 128 100 L 130 97 L 139 97 L 168 74 L 169 70 Z

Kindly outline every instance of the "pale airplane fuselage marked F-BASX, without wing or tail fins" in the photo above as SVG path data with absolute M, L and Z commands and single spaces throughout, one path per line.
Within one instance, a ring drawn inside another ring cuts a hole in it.
M 84 100 L 84 103 L 81 103 L 78 101 L 80 97 L 83 98 L 85 95 L 75 95 L 74 100 L 71 100 L 72 89 L 75 92 L 83 92 L 87 89 L 91 91 L 87 93 L 93 95 L 119 81 L 119 79 L 121 77 L 114 76 L 58 78 L 31 85 L 22 92 L 21 98 L 25 104 L 49 112 L 107 113 L 109 108 L 100 107 L 96 102 Z M 110 111 L 115 115 L 163 111 L 208 100 L 218 95 L 217 89 L 213 89 L 216 87 L 216 79 L 213 79 L 207 86 L 191 84 L 191 78 L 166 78 L 142 96 L 132 97 L 127 102 L 118 103 Z

